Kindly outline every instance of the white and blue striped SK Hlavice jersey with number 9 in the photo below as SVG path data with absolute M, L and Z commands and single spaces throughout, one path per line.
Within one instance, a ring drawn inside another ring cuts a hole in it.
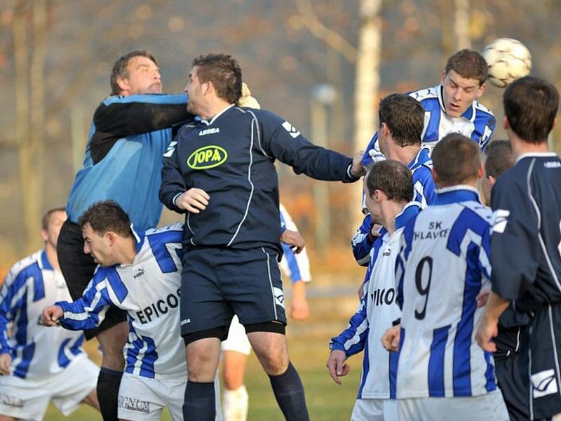
M 397 397 L 478 396 L 496 389 L 492 354 L 475 342 L 489 288 L 491 211 L 476 189 L 439 189 L 410 220 L 396 260 L 401 316 Z

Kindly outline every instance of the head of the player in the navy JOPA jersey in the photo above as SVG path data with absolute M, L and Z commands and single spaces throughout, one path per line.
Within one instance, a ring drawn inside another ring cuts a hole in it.
M 201 108 L 214 98 L 230 104 L 241 98 L 241 68 L 231 55 L 199 55 L 191 66 L 185 86 L 189 95 L 187 111 L 191 114 L 201 114 Z

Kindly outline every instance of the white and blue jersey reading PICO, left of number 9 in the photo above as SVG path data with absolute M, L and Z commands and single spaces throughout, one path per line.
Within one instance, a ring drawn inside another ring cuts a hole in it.
M 346 356 L 364 350 L 358 399 L 396 398 L 398 354 L 387 352 L 380 338 L 401 316 L 396 303 L 396 258 L 403 227 L 419 210 L 419 203 L 408 203 L 396 217 L 396 231 L 391 235 L 386 232 L 374 241 L 365 278 L 365 294 L 349 326 L 330 343 L 331 349 L 341 349 Z

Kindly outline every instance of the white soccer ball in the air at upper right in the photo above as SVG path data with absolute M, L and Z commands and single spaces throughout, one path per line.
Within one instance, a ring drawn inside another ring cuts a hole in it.
M 517 39 L 495 39 L 482 55 L 489 66 L 489 81 L 499 88 L 526 76 L 532 69 L 532 55 Z

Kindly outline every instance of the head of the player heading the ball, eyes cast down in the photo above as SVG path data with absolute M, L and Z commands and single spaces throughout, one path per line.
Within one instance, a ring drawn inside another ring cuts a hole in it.
M 442 73 L 442 102 L 446 114 L 459 117 L 485 92 L 487 62 L 477 51 L 464 49 L 454 53 Z

